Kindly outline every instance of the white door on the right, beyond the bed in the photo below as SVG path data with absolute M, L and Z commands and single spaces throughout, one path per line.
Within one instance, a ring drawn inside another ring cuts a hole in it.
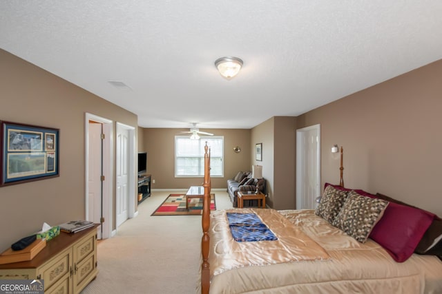
M 320 196 L 320 125 L 296 130 L 296 209 L 315 209 Z

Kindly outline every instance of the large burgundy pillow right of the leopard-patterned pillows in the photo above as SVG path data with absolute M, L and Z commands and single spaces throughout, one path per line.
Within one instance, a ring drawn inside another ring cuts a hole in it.
M 414 253 L 434 219 L 434 214 L 390 202 L 369 238 L 387 250 L 396 262 L 405 262 Z

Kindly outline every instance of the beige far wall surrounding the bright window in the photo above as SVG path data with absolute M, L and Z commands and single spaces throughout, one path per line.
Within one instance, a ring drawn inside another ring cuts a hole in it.
M 202 178 L 175 178 L 175 135 L 189 129 L 143 129 L 144 151 L 147 151 L 148 174 L 152 175 L 152 189 L 186 189 L 201 185 Z M 227 187 L 227 179 L 238 171 L 251 170 L 249 129 L 201 129 L 215 136 L 224 136 L 224 177 L 212 177 L 213 189 Z M 141 145 L 140 145 L 141 146 Z M 241 147 L 240 153 L 233 148 Z

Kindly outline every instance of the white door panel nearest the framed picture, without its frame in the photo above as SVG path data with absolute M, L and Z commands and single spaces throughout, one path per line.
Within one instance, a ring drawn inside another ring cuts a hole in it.
M 87 220 L 100 223 L 102 218 L 102 124 L 89 122 L 88 216 Z M 102 230 L 97 230 L 102 238 Z

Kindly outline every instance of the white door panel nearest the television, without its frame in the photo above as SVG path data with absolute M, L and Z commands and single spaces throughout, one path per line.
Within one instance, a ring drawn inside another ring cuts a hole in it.
M 127 129 L 117 127 L 117 227 L 129 216 L 129 138 Z

